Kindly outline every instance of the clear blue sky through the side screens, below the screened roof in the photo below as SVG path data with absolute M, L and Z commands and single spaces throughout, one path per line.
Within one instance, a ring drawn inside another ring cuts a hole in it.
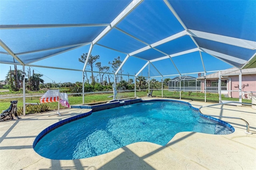
M 81 69 L 83 68 L 84 64 L 78 61 L 78 58 L 83 53 L 88 53 L 89 45 L 80 47 L 66 53 L 62 53 L 53 57 L 49 57 L 48 59 L 44 59 L 42 61 L 38 61 L 36 63 L 32 63 L 34 65 L 43 65 L 43 66 L 52 66 L 52 67 L 63 67 L 63 68 L 74 68 L 74 69 Z M 95 45 L 92 50 L 92 55 L 100 55 L 100 59 L 97 62 L 101 62 L 102 66 L 110 66 L 112 71 L 111 65 L 108 62 L 112 62 L 114 58 L 120 57 L 121 61 L 123 61 L 126 57 L 126 54 L 119 53 L 98 45 Z M 206 70 L 222 70 L 226 68 L 231 68 L 232 66 L 226 64 L 208 54 L 202 53 L 204 64 Z M 181 58 L 182 57 L 182 58 Z M 178 67 L 181 73 L 189 73 L 189 72 L 197 72 L 203 71 L 202 62 L 200 59 L 199 52 L 189 53 L 186 55 L 173 57 L 172 58 L 176 66 Z M 123 74 L 130 74 L 134 75 L 137 73 L 146 61 L 138 59 L 136 57 L 130 57 L 123 66 Z M 177 70 L 175 69 L 174 65 L 170 61 L 170 59 L 165 59 L 162 61 L 157 61 L 153 63 L 154 66 L 163 74 L 163 75 L 170 75 L 170 74 L 178 74 Z M 0 64 L 0 80 L 5 80 L 5 76 L 10 69 L 14 69 L 13 65 L 10 64 Z M 18 69 L 22 69 L 22 66 L 17 66 Z M 88 66 L 86 67 L 89 68 Z M 42 79 L 45 83 L 53 82 L 56 83 L 60 82 L 82 82 L 82 72 L 79 71 L 72 71 L 72 70 L 59 70 L 59 69 L 52 69 L 52 68 L 40 68 L 40 67 L 30 67 L 30 70 L 34 69 L 35 73 L 43 74 L 44 76 Z M 28 70 L 28 67 L 25 66 L 25 70 Z M 98 68 L 94 67 L 94 71 L 98 71 Z M 94 74 L 97 75 L 98 73 Z M 144 68 L 142 71 L 143 76 L 148 75 L 148 66 Z M 153 66 L 150 65 L 150 76 L 159 76 L 160 74 L 155 70 Z M 90 73 L 88 73 L 90 76 Z M 190 76 L 197 77 L 197 74 L 192 74 Z M 168 76 L 164 78 L 173 78 L 175 76 Z M 128 80 L 128 76 L 123 76 L 124 80 Z M 129 78 L 134 79 L 134 77 L 130 76 Z M 161 78 L 156 78 L 160 81 Z M 114 81 L 114 79 L 112 79 Z

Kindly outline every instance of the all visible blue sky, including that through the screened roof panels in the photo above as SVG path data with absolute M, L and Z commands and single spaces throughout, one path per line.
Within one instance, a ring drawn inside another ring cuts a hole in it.
M 10 1 L 6 0 L 1 3 L 0 14 L 3 16 L 1 17 L 1 24 L 111 23 L 129 3 L 130 1 L 74 1 L 72 2 L 74 8 L 70 8 L 69 1 L 62 1 L 62 3 L 54 0 L 48 3 L 44 3 L 44 1 L 12 1 L 12 3 L 10 3 Z M 177 9 L 176 12 L 178 12 L 178 16 L 180 16 L 180 19 L 189 29 L 252 41 L 255 40 L 255 35 L 251 33 L 252 28 L 255 27 L 255 22 L 252 20 L 255 14 L 253 8 L 255 6 L 254 1 L 236 1 L 236 3 L 230 3 L 229 1 L 170 1 L 170 3 L 173 8 Z M 26 6 L 26 10 L 24 10 L 23 6 Z M 88 7 L 87 10 L 84 10 L 85 6 Z M 42 14 L 44 15 L 42 16 Z M 1 40 L 13 53 L 18 54 L 34 50 L 40 51 L 53 47 L 64 47 L 92 42 L 105 27 L 1 29 Z M 164 1 L 142 2 L 135 10 L 128 14 L 126 18 L 120 21 L 116 25 L 116 28 L 117 29 L 111 29 L 108 34 L 102 37 L 97 43 L 126 53 L 131 53 L 147 45 L 128 36 L 129 34 L 148 44 L 152 44 L 184 30 L 184 27 L 182 27 L 180 22 L 172 14 Z M 120 29 L 127 34 L 122 33 Z M 194 39 L 199 42 L 198 45 L 200 47 L 238 57 L 239 59 L 248 60 L 255 53 L 250 49 L 241 50 L 241 47 L 226 45 L 215 41 L 212 42 L 211 40 L 202 38 Z M 84 64 L 80 63 L 78 58 L 80 58 L 83 53 L 88 53 L 89 47 L 90 45 L 80 47 L 31 64 L 82 70 Z M 166 54 L 175 54 L 188 49 L 197 48 L 197 46 L 189 35 L 184 35 L 158 45 L 156 48 Z M 58 50 L 60 49 L 56 51 Z M 0 47 L 0 51 L 6 52 L 2 47 Z M 46 50 L 20 56 L 29 62 L 34 56 L 37 58 L 41 56 L 44 57 L 52 54 L 53 51 L 54 50 Z M 156 54 L 157 57 L 164 55 L 159 53 L 158 51 L 149 49 L 136 55 L 138 57 L 151 57 L 150 59 L 152 59 L 154 54 Z M 0 56 L 1 55 L 4 54 L 0 54 Z M 123 61 L 126 57 L 123 53 L 112 51 L 98 45 L 94 45 L 92 55 L 100 55 L 98 62 L 101 62 L 102 66 L 110 66 L 110 68 L 111 65 L 108 64 L 109 61 L 112 62 L 114 58 L 118 56 L 121 61 Z M 9 56 L 7 56 L 7 58 Z M 207 71 L 224 70 L 233 67 L 206 53 L 202 53 L 202 58 Z M 12 59 L 8 58 L 8 60 L 3 61 L 9 62 L 11 60 Z M 184 73 L 204 71 L 198 51 L 172 57 L 172 60 L 182 76 Z M 129 73 L 134 75 L 145 63 L 146 61 L 144 60 L 130 57 L 122 68 L 123 74 Z M 163 75 L 178 74 L 178 71 L 170 59 L 157 61 L 153 64 Z M 149 66 L 150 76 L 159 76 L 160 74 L 156 71 L 154 66 Z M 11 67 L 14 69 L 13 65 L 11 65 Z M 0 80 L 5 79 L 9 69 L 10 64 L 0 64 Z M 18 66 L 18 69 L 22 69 L 22 66 Z M 28 70 L 28 67 L 26 66 L 25 69 Z M 46 83 L 53 81 L 56 83 L 74 83 L 82 81 L 82 72 L 78 71 L 38 67 L 31 68 L 31 70 L 33 69 L 35 73 L 44 75 L 42 79 Z M 94 67 L 94 71 L 98 71 L 98 69 Z M 88 75 L 90 76 L 90 74 Z M 94 76 L 95 75 L 97 74 L 94 74 Z M 148 66 L 140 75 L 148 75 Z M 164 78 L 173 78 L 175 76 Z M 197 77 L 197 74 L 190 74 L 190 76 Z M 128 77 L 124 76 L 124 79 L 128 80 Z M 156 79 L 160 80 L 161 78 Z

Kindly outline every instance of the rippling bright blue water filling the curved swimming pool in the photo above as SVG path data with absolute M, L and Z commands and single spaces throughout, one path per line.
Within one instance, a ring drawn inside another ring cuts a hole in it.
M 135 142 L 166 145 L 176 133 L 229 134 L 202 119 L 187 104 L 140 102 L 92 113 L 43 137 L 34 150 L 50 159 L 80 159 L 111 152 Z

